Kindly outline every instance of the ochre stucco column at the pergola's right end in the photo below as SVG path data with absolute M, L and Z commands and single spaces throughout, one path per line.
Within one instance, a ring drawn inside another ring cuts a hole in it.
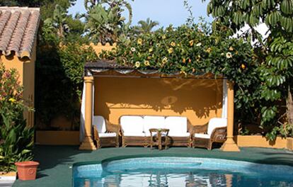
M 227 116 L 227 140 L 222 145 L 221 149 L 224 152 L 240 152 L 239 147 L 233 140 L 233 126 L 234 126 L 234 84 L 227 81 L 228 87 L 228 116 Z

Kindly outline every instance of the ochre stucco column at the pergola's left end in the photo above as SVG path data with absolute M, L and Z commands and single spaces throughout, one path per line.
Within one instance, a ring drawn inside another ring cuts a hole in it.
M 96 150 L 91 138 L 91 124 L 93 111 L 93 77 L 84 77 L 86 84 L 86 105 L 85 105 L 85 122 L 84 122 L 84 141 L 81 143 L 79 149 Z

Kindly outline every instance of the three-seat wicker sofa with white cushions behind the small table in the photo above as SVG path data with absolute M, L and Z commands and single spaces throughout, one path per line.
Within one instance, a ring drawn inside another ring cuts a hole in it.
M 193 126 L 186 117 L 156 115 L 122 115 L 120 129 L 122 147 L 128 145 L 148 147 L 151 128 L 169 129 L 168 137 L 171 146 L 187 146 L 192 144 Z

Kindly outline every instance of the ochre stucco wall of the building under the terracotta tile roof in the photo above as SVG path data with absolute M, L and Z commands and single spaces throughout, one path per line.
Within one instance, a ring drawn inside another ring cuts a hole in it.
M 16 55 L 10 55 L 8 57 L 0 55 L 1 62 L 6 69 L 14 68 L 18 71 L 19 81 L 23 85 L 23 98 L 25 101 L 29 101 L 27 104 L 30 107 L 34 107 L 35 101 L 35 57 L 36 57 L 36 40 L 33 46 L 33 52 L 30 59 L 24 57 L 19 59 Z M 27 125 L 33 127 L 34 125 L 34 113 L 33 111 L 24 111 L 24 118 L 27 120 Z

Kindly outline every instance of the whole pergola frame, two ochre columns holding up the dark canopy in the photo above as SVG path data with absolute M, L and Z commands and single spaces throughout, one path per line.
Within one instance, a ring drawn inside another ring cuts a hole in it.
M 93 83 L 94 77 L 135 77 L 135 78 L 176 78 L 176 79 L 224 79 L 225 77 L 214 74 L 195 72 L 182 76 L 179 72 L 172 74 L 160 73 L 158 69 L 134 69 L 131 66 L 117 64 L 113 61 L 98 60 L 96 62 L 88 62 L 85 64 L 84 72 L 84 139 L 79 149 L 94 150 L 96 146 L 93 144 L 91 135 L 92 118 L 93 118 Z M 224 81 L 227 88 L 227 136 L 226 142 L 222 145 L 222 150 L 227 152 L 239 152 L 239 147 L 234 142 L 234 84 L 231 81 Z

